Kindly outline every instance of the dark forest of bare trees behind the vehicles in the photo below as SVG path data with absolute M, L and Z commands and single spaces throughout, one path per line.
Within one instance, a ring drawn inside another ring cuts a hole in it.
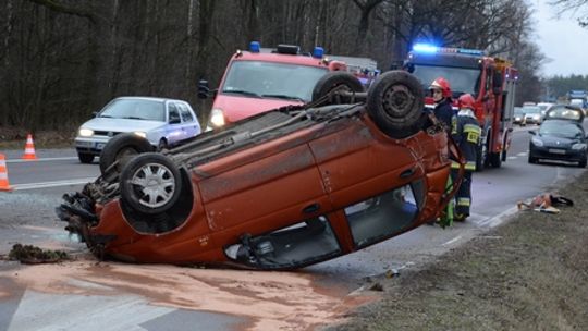
M 585 0 L 578 0 L 580 4 Z M 575 2 L 575 1 L 555 1 Z M 189 101 L 206 122 L 230 57 L 262 47 L 321 46 L 382 71 L 416 41 L 486 50 L 519 70 L 516 103 L 588 87 L 540 76 L 525 0 L 4 0 L 0 4 L 0 127 L 69 131 L 118 96 Z M 581 23 L 581 22 L 580 22 Z M 548 95 L 548 91 L 550 95 Z

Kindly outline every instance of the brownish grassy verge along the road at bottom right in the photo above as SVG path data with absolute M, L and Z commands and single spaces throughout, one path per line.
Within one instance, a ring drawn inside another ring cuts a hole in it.
M 432 265 L 371 280 L 381 299 L 327 330 L 588 330 L 588 173 L 558 194 L 574 206 L 518 211 Z

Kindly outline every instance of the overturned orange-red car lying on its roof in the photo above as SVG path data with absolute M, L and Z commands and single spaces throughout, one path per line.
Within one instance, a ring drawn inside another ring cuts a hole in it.
M 110 158 L 58 214 L 97 257 L 252 269 L 304 267 L 434 220 L 461 182 L 445 187 L 451 160 L 461 174 L 464 160 L 422 112 L 419 82 L 391 71 L 366 94 L 353 79 L 331 73 L 309 105 Z M 105 151 L 142 148 L 123 134 Z

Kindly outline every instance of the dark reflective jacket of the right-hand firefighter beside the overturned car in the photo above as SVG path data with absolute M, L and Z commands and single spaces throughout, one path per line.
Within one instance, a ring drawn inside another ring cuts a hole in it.
M 481 128 L 478 120 L 470 109 L 461 109 L 455 117 L 452 126 L 451 137 L 462 150 L 466 159 L 465 170 L 476 171 L 477 149 L 480 142 Z M 452 163 L 452 168 L 460 168 L 457 162 Z

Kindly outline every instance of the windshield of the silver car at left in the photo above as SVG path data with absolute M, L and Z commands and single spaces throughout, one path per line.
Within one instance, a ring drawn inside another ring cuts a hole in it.
M 98 117 L 164 122 L 166 108 L 162 101 L 115 99 L 108 103 Z

